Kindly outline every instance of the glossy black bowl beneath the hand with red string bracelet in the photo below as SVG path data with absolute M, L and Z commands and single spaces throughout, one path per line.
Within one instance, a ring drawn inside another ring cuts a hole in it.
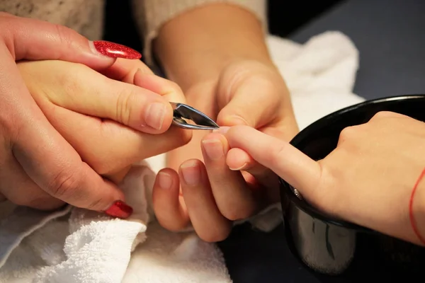
M 303 129 L 291 141 L 297 149 L 319 160 L 335 149 L 342 129 L 368 122 L 380 111 L 398 112 L 425 121 L 425 95 L 395 96 L 344 108 Z M 425 160 L 425 159 L 424 159 Z M 332 219 L 300 200 L 280 180 L 280 198 L 288 244 L 310 269 L 323 275 L 381 281 L 414 277 L 425 267 L 425 249 L 362 226 Z M 419 278 L 423 278 L 423 273 Z

